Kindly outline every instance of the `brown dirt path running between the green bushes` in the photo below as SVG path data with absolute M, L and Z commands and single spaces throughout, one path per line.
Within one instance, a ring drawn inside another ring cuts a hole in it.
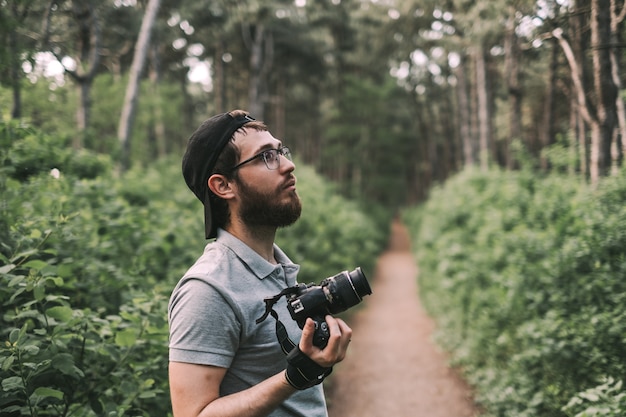
M 330 417 L 470 417 L 478 413 L 467 386 L 431 342 L 433 322 L 417 296 L 409 238 L 394 223 L 372 295 L 348 320 L 348 357 L 328 387 Z

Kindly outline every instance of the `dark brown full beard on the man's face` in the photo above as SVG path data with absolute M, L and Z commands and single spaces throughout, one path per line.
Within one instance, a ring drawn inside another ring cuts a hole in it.
M 259 192 L 242 181 L 239 187 L 239 217 L 248 226 L 286 227 L 300 218 L 302 202 L 295 191 L 289 201 L 278 202 L 274 194 Z

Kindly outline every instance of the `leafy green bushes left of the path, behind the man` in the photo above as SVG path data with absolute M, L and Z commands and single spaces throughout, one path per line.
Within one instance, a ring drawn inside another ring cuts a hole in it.
M 205 245 L 180 160 L 118 178 L 108 159 L 35 129 L 2 124 L 0 143 L 0 414 L 171 415 L 167 302 Z M 368 268 L 375 229 L 301 173 L 304 218 L 282 245 L 302 279 Z

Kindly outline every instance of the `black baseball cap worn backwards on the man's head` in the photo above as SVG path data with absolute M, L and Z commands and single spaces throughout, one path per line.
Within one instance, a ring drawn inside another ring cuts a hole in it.
M 222 113 L 205 120 L 191 135 L 183 156 L 183 176 L 187 186 L 204 204 L 204 230 L 207 239 L 217 236 L 211 211 L 208 179 L 226 144 L 235 132 L 255 119 L 249 114 L 232 116 Z

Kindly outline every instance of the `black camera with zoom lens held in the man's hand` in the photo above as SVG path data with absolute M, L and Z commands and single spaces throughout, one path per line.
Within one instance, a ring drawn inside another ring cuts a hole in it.
M 287 309 L 301 329 L 307 318 L 315 321 L 313 344 L 320 349 L 328 344 L 330 337 L 326 315 L 341 313 L 372 293 L 360 267 L 326 278 L 319 285 L 298 284 L 293 288 L 287 297 Z

